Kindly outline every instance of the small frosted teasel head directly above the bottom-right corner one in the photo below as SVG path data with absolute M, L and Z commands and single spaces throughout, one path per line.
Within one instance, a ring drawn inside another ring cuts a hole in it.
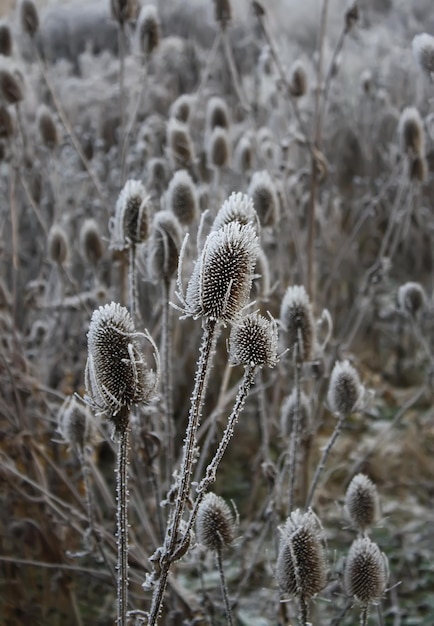
M 356 474 L 345 494 L 345 509 L 352 525 L 364 532 L 380 518 L 380 499 L 375 484 L 365 474 Z

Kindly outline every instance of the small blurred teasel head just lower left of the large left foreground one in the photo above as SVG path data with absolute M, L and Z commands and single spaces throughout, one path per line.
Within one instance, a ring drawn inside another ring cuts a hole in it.
M 91 420 L 88 407 L 75 396 L 67 396 L 59 409 L 57 430 L 73 450 L 82 453 L 89 438 Z

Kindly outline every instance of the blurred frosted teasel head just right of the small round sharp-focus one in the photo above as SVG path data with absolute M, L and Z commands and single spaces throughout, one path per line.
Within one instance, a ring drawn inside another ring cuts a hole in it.
M 315 322 L 312 305 L 303 285 L 288 287 L 280 307 L 280 321 L 287 334 L 290 350 L 298 349 L 298 358 L 312 359 L 315 346 Z

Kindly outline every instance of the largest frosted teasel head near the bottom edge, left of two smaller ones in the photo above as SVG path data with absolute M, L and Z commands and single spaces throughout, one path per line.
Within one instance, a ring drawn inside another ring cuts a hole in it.
M 323 530 L 310 509 L 293 511 L 281 529 L 276 579 L 283 592 L 306 600 L 327 583 Z

